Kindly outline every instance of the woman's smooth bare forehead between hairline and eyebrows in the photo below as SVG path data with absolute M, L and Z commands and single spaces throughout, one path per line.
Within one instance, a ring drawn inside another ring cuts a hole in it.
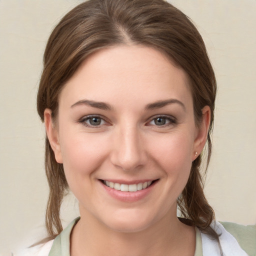
M 142 45 L 100 49 L 80 65 L 60 95 L 64 101 L 82 97 L 124 104 L 165 98 L 191 100 L 186 73 L 160 51 Z

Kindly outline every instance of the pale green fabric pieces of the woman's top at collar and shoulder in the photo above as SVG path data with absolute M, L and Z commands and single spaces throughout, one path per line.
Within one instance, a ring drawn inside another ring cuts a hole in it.
M 80 218 L 75 218 L 63 231 L 56 236 L 53 241 L 49 256 L 70 256 L 70 233 L 73 226 Z M 240 244 L 241 248 L 247 252 L 249 256 L 256 256 L 256 226 L 243 226 L 230 222 L 221 223 L 224 228 L 231 233 Z M 194 256 L 203 256 L 202 240 L 198 228 L 195 228 L 196 244 Z M 228 256 L 228 255 L 227 255 Z

